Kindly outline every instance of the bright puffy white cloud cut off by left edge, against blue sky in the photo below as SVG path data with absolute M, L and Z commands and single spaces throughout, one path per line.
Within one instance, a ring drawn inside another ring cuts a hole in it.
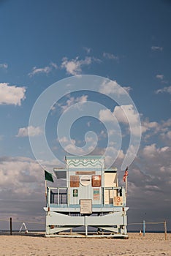
M 9 86 L 8 83 L 0 83 L 0 105 L 21 105 L 25 97 L 26 88 Z

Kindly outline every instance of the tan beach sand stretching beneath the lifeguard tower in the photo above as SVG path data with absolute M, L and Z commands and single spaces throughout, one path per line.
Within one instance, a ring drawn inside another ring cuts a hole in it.
M 42 234 L 0 236 L 0 255 L 26 256 L 171 256 L 171 234 L 129 233 L 129 239 L 115 238 L 45 238 Z

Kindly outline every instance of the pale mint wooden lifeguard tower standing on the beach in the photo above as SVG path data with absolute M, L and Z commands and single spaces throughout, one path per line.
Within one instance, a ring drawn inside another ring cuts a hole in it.
M 117 168 L 104 168 L 104 157 L 66 157 L 54 168 L 64 187 L 47 187 L 46 236 L 127 238 L 126 192 Z

